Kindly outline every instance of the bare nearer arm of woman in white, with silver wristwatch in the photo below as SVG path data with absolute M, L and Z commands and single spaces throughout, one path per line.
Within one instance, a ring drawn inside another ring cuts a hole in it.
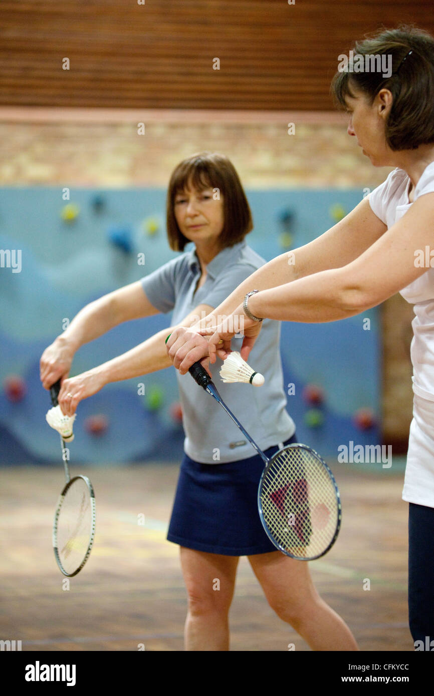
M 433 246 L 433 230 L 434 193 L 426 193 L 351 263 L 259 292 L 251 296 L 249 310 L 257 317 L 307 323 L 334 322 L 357 315 L 426 273 L 428 269 L 417 264 L 415 258 L 418 250 Z M 230 325 L 237 317 L 239 322 L 243 314 L 239 306 L 217 327 L 209 342 L 212 362 L 216 345 L 223 342 L 227 347 L 233 336 Z

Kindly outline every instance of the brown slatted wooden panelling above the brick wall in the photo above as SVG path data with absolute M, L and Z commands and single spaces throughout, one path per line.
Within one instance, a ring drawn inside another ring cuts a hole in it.
M 401 22 L 431 1 L 3 0 L 0 105 L 330 110 L 339 54 Z

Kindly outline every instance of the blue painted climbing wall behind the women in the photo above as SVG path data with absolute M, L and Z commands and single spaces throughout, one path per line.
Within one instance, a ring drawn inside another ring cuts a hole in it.
M 96 193 L 104 200 L 100 209 L 93 205 Z M 26 381 L 20 402 L 10 402 L 4 390 L 0 393 L 0 464 L 59 461 L 57 435 L 45 422 L 50 404 L 38 377 L 40 355 L 61 333 L 63 319 L 72 319 L 89 301 L 138 280 L 176 255 L 166 242 L 165 196 L 164 189 L 71 189 L 70 203 L 80 212 L 75 221 L 65 223 L 61 209 L 68 201 L 60 188 L 0 189 L 0 249 L 22 253 L 20 273 L 0 268 L 0 383 L 9 374 Z M 292 235 L 293 248 L 305 244 L 332 226 L 332 205 L 349 211 L 360 200 L 359 191 L 334 190 L 247 190 L 247 196 L 255 223 L 247 239 L 266 260 L 284 251 L 284 233 Z M 287 226 L 282 221 L 286 211 L 293 214 Z M 144 232 L 148 218 L 160 221 L 155 235 Z M 131 253 L 110 244 L 109 230 L 116 228 L 121 236 L 123 230 L 130 235 Z M 145 255 L 144 266 L 137 263 L 138 253 Z M 365 317 L 371 320 L 369 331 L 363 328 Z M 118 326 L 80 349 L 71 374 L 130 349 L 169 324 L 169 316 L 157 315 Z M 352 422 L 363 407 L 380 416 L 378 331 L 376 310 L 345 322 L 282 325 L 285 385 L 295 385 L 288 411 L 297 423 L 298 439 L 325 455 L 336 454 L 337 446 L 350 440 L 379 442 L 378 427 L 362 432 Z M 139 381 L 148 394 L 153 386 L 162 390 L 160 410 L 150 411 L 145 398 L 137 395 Z M 309 406 L 302 400 L 302 388 L 307 383 L 325 391 L 324 422 L 316 428 L 304 423 Z M 71 445 L 74 461 L 179 459 L 183 433 L 171 418 L 174 401 L 173 368 L 107 386 L 79 406 Z M 100 437 L 84 429 L 86 417 L 95 413 L 104 413 L 110 423 Z

